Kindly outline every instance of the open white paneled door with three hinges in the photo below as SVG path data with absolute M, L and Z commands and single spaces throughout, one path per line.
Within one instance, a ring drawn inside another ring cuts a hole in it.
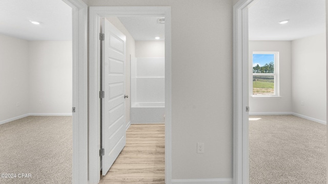
M 126 60 L 126 36 L 107 19 L 101 21 L 105 34 L 102 43 L 102 158 L 103 175 L 126 144 L 124 66 Z

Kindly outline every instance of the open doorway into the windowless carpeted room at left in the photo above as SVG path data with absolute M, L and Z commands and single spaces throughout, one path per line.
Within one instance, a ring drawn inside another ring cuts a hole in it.
M 3 182 L 72 182 L 72 8 L 63 1 L 1 4 L 1 170 L 27 174 Z

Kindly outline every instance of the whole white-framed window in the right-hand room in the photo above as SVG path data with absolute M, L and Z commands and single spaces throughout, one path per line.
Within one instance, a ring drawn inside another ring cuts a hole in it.
M 253 52 L 253 96 L 279 96 L 279 52 Z

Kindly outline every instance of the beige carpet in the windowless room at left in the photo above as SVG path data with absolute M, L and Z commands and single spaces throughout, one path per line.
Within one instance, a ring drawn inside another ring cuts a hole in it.
M 0 174 L 16 174 L 0 183 L 72 183 L 72 146 L 72 117 L 30 116 L 0 125 Z

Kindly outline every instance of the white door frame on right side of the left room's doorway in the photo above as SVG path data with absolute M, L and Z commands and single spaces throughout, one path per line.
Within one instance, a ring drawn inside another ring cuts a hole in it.
M 62 1 L 72 8 L 72 183 L 88 183 L 88 6 Z

